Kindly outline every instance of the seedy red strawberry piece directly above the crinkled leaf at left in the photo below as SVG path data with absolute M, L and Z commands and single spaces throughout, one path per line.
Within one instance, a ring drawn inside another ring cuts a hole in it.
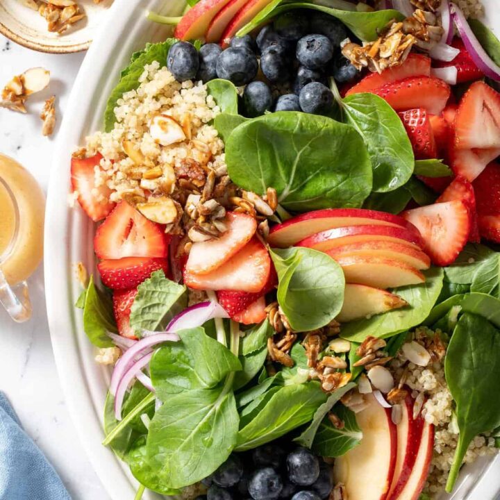
M 163 269 L 169 272 L 166 258 L 124 257 L 121 259 L 101 260 L 97 265 L 101 281 L 113 290 L 137 288 L 140 283 L 151 276 L 151 273 Z

